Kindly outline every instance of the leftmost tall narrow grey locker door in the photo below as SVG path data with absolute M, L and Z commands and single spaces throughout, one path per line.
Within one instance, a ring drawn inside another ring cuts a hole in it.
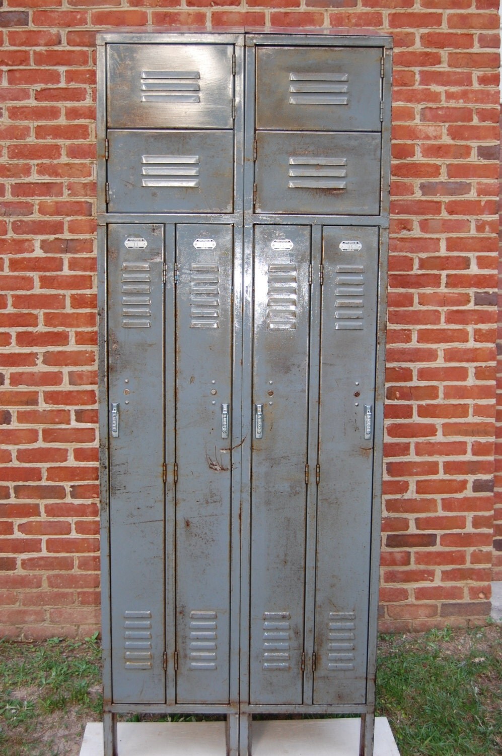
M 165 701 L 163 230 L 108 231 L 112 690 L 120 702 Z

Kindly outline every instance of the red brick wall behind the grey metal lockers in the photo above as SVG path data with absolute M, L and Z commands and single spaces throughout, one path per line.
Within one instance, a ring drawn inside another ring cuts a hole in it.
M 493 539 L 498 0 L 5 0 L 0 633 L 98 622 L 94 34 L 395 39 L 382 627 L 482 621 Z

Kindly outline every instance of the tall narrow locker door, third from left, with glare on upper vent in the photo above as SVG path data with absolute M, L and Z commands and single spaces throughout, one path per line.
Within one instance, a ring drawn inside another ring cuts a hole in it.
M 251 703 L 301 703 L 310 228 L 254 236 Z

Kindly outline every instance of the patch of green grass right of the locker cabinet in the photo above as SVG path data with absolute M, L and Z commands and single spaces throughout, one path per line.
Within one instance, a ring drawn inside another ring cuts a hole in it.
M 401 756 L 502 754 L 502 627 L 384 636 L 377 714 Z

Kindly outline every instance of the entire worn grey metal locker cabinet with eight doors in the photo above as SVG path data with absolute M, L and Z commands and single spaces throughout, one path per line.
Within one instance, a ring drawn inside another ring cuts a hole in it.
M 371 756 L 391 41 L 97 44 L 105 756 L 132 710 Z

